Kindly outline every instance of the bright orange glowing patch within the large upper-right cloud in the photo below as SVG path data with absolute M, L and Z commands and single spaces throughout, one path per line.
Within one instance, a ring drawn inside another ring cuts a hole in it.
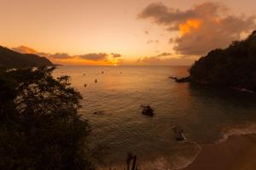
M 192 29 L 197 29 L 201 26 L 202 21 L 197 19 L 187 20 L 185 23 L 180 24 L 179 31 L 181 36 L 188 34 L 191 32 Z

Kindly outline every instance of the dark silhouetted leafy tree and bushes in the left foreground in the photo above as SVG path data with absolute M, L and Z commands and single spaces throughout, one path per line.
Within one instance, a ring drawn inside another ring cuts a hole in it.
M 0 71 L 0 169 L 93 169 L 82 96 L 54 69 Z

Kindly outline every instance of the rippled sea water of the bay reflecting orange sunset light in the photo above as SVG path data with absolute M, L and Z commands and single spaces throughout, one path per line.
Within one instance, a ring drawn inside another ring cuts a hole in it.
M 188 70 L 185 66 L 60 66 L 54 75 L 70 76 L 84 98 L 79 113 L 90 123 L 90 145 L 101 160 L 98 169 L 125 169 L 128 152 L 137 156 L 141 169 L 177 169 L 195 160 L 201 144 L 256 133 L 254 94 L 169 78 L 186 77 Z M 150 105 L 154 116 L 144 116 L 141 105 Z M 183 128 L 186 140 L 176 141 L 173 126 Z

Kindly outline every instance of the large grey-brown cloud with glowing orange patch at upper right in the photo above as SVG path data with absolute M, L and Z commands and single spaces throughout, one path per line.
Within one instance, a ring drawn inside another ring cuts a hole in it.
M 139 19 L 149 19 L 168 31 L 179 31 L 171 38 L 178 54 L 207 54 L 212 48 L 224 48 L 240 39 L 241 33 L 255 28 L 255 16 L 229 14 L 222 3 L 201 3 L 187 10 L 168 8 L 162 3 L 151 3 L 138 14 Z

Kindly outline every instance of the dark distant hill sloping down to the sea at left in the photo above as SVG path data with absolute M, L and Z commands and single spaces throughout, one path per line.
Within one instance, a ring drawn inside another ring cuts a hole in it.
M 20 54 L 9 48 L 0 46 L 0 66 L 7 68 L 20 67 L 38 67 L 38 66 L 54 66 L 53 63 L 45 57 L 36 54 Z

